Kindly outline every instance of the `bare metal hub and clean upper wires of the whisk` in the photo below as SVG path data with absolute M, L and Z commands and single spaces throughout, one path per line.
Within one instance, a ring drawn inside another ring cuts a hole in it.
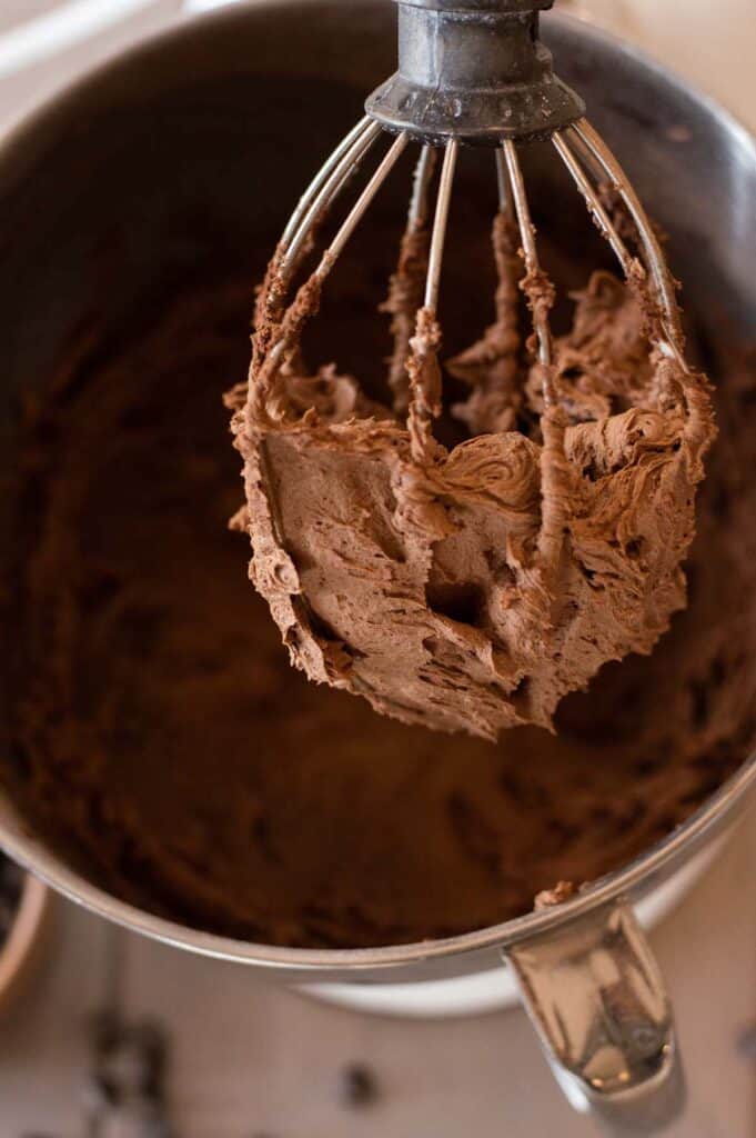
M 422 150 L 408 236 L 430 217 L 434 159 L 439 149 L 443 155 L 427 250 L 424 310 L 434 315 L 438 307 L 460 146 L 495 149 L 501 209 L 518 228 L 525 281 L 537 280 L 541 267 L 518 146 L 550 139 L 625 278 L 648 282 L 658 310 L 658 346 L 686 370 L 675 284 L 654 228 L 616 157 L 584 117 L 582 100 L 554 74 L 551 53 L 539 40 L 540 10 L 550 8 L 553 0 L 396 2 L 399 71 L 367 99 L 366 117 L 337 147 L 291 216 L 264 289 L 267 315 L 275 319 L 277 308 L 281 316 L 286 288 L 319 223 L 384 131 L 396 138 L 323 253 L 310 286 L 319 288 L 329 275 L 410 142 L 418 142 Z M 615 206 L 622 207 L 622 224 L 615 220 Z M 555 399 L 548 377 L 553 362 L 549 305 L 529 298 L 538 360 L 547 370 L 543 398 L 548 407 Z M 269 345 L 268 377 L 283 360 L 288 340 L 292 341 L 284 319 L 281 338 Z

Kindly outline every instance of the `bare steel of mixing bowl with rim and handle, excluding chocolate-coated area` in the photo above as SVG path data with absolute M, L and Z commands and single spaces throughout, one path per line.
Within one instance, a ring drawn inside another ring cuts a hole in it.
M 297 189 L 354 122 L 365 92 L 392 71 L 392 7 L 268 0 L 176 26 L 64 91 L 7 139 L 5 463 L 14 461 L 17 393 L 50 373 L 93 307 L 117 331 L 151 289 L 201 271 L 209 257 L 259 273 Z M 585 25 L 555 17 L 547 39 L 670 232 L 671 264 L 704 336 L 716 345 L 723 320 L 734 333 L 753 332 L 751 138 L 663 68 Z M 539 178 L 548 192 L 548 174 L 537 170 Z M 680 1080 L 668 1001 L 632 906 L 730 826 L 755 784 L 756 762 L 743 754 L 739 773 L 684 826 L 558 908 L 449 940 L 358 951 L 234 941 L 133 908 L 66 864 L 9 798 L 0 802 L 0 841 L 108 920 L 288 981 L 396 983 L 506 960 L 573 1104 L 617 1132 L 650 1132 L 679 1108 Z

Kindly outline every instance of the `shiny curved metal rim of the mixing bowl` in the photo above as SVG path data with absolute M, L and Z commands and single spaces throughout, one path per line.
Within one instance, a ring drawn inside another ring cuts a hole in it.
M 75 100 L 90 86 L 97 86 L 101 79 L 114 69 L 139 59 L 176 39 L 197 34 L 201 26 L 209 24 L 232 24 L 264 17 L 271 8 L 305 8 L 322 5 L 324 0 L 264 0 L 255 6 L 232 6 L 215 11 L 192 16 L 178 24 L 151 33 L 125 51 L 119 51 L 105 63 L 85 71 L 73 83 L 68 82 L 31 114 L 24 116 L 6 134 L 0 143 L 0 162 L 10 148 L 23 143 L 25 137 L 51 121 L 60 104 Z M 327 0 L 325 0 L 327 2 Z M 671 72 L 635 46 L 621 40 L 613 33 L 589 24 L 575 16 L 555 14 L 551 25 L 580 28 L 580 35 L 593 41 L 599 50 L 607 49 L 639 66 L 649 76 L 661 79 L 665 84 L 691 100 L 705 115 L 714 119 L 720 130 L 731 137 L 737 147 L 746 148 L 750 163 L 756 168 L 756 139 L 729 110 L 713 97 L 699 91 L 690 82 Z M 535 935 L 557 929 L 584 916 L 589 910 L 610 904 L 617 898 L 638 891 L 649 880 L 667 873 L 686 853 L 692 852 L 707 836 L 745 802 L 748 792 L 756 790 L 756 752 L 750 754 L 740 768 L 681 826 L 651 846 L 639 857 L 595 882 L 585 885 L 574 898 L 564 904 L 539 912 L 523 914 L 512 921 L 456 937 L 406 945 L 389 945 L 376 948 L 355 949 L 300 949 L 286 948 L 240 940 L 203 932 L 140 909 L 91 884 L 81 874 L 69 868 L 31 833 L 18 833 L 0 823 L 0 847 L 15 860 L 40 877 L 57 892 L 86 909 L 106 917 L 133 932 L 177 948 L 218 959 L 254 964 L 279 972 L 301 973 L 310 978 L 337 972 L 351 973 L 358 979 L 360 973 L 394 971 L 400 966 L 415 965 L 443 957 L 459 957 L 482 950 L 501 950 Z M 756 794 L 754 795 L 756 799 Z

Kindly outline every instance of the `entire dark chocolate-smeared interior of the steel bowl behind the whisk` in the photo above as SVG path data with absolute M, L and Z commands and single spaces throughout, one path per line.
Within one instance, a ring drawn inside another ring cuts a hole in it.
M 392 67 L 387 6 L 362 6 L 358 28 L 341 11 L 260 6 L 161 38 L 8 145 L 0 509 L 6 824 L 36 827 L 86 879 L 189 927 L 354 948 L 491 925 L 523 912 L 535 882 L 626 864 L 747 757 L 756 233 L 743 203 L 756 158 L 661 72 L 554 22 L 560 72 L 668 233 L 691 351 L 720 387 L 691 607 L 651 660 L 608 668 L 570 700 L 557 740 L 518 732 L 497 750 L 407 731 L 288 671 L 244 580 L 243 541 L 224 529 L 241 487 L 221 395 L 244 374 L 251 283 Z M 610 257 L 553 152 L 534 148 L 526 168 L 566 294 Z M 409 175 L 371 213 L 308 338 L 376 394 L 388 340 L 375 305 Z M 449 353 L 490 316 L 495 205 L 490 155 L 465 155 L 443 275 Z M 557 320 L 568 311 L 565 299 Z M 61 475 L 70 495 L 50 492 Z

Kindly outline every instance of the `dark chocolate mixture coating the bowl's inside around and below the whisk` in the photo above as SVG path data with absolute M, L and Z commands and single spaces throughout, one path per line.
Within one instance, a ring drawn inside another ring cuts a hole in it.
M 556 736 L 495 745 L 290 668 L 226 527 L 250 306 L 247 281 L 208 283 L 123 343 L 91 328 L 27 407 L 5 777 L 40 830 L 151 912 L 355 947 L 524 913 L 689 816 L 756 734 L 756 361 L 728 378 L 687 611 Z

